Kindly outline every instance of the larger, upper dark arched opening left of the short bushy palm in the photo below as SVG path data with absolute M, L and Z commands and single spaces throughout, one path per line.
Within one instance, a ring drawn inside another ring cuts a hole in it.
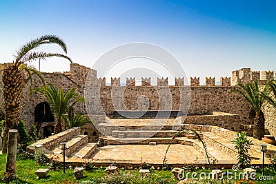
M 53 122 L 55 117 L 52 115 L 50 106 L 47 102 L 39 103 L 34 109 L 34 122 Z

